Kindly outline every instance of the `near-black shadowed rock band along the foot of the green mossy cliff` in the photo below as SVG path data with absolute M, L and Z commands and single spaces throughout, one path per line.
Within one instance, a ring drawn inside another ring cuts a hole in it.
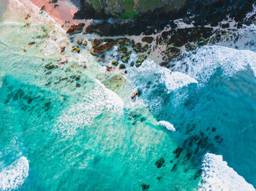
M 87 27 L 86 32 L 96 33 L 101 36 L 123 36 L 123 35 L 151 35 L 162 31 L 166 26 L 176 28 L 173 20 L 183 18 L 184 22 L 193 23 L 194 26 L 218 26 L 228 18 L 236 21 L 237 26 L 244 23 L 244 17 L 252 12 L 255 0 L 192 0 L 186 1 L 183 7 L 165 10 L 165 7 L 157 7 L 147 12 L 138 12 L 137 17 L 120 19 L 116 14 L 110 15 L 92 7 L 88 1 L 80 1 L 80 10 L 75 13 L 75 19 L 93 19 L 94 22 Z M 110 21 L 110 17 L 113 17 Z M 99 21 L 98 21 L 99 20 Z M 102 22 L 103 21 L 103 22 Z M 250 23 L 247 20 L 247 23 Z

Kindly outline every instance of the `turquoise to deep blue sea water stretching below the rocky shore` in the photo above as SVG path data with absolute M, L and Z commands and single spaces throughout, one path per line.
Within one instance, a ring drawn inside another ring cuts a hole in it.
M 197 190 L 206 152 L 256 185 L 255 52 L 206 47 L 189 55 L 187 73 L 146 61 L 107 74 L 91 57 L 86 70 L 48 70 L 58 55 L 23 51 L 41 27 L 0 28 L 0 179 L 16 182 L 0 189 Z M 17 31 L 30 34 L 17 42 Z M 136 87 L 142 95 L 131 101 Z

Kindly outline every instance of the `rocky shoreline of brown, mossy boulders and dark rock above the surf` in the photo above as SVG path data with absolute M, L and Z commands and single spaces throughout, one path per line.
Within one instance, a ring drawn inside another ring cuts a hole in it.
M 201 0 L 197 3 L 199 2 L 201 2 Z M 224 9 L 223 7 L 218 8 L 218 6 L 222 6 L 224 2 L 227 1 L 204 1 L 207 6 L 214 5 L 211 7 L 213 11 L 211 14 L 213 15 Z M 182 19 L 162 19 L 157 26 L 153 26 L 154 22 L 164 17 L 162 14 L 168 15 L 171 14 L 171 12 L 157 9 L 155 12 L 157 16 L 154 14 L 150 15 L 147 12 L 144 15 L 140 15 L 141 17 L 138 17 L 136 20 L 129 18 L 124 20 L 116 19 L 114 20 L 115 22 L 110 22 L 110 20 L 101 20 L 101 22 L 99 22 L 99 20 L 92 20 L 90 24 L 86 20 L 84 23 L 83 20 L 80 20 L 81 23 L 77 24 L 72 24 L 72 21 L 69 20 L 63 20 L 65 25 L 62 25 L 61 28 L 66 30 L 68 34 L 67 36 L 72 43 L 72 48 L 69 49 L 72 52 L 80 53 L 81 51 L 83 52 L 84 49 L 89 50 L 91 55 L 94 55 L 98 61 L 105 61 L 105 56 L 108 55 L 107 51 L 116 47 L 115 50 L 117 50 L 118 55 L 113 58 L 113 61 L 111 61 L 112 64 L 110 63 L 107 71 L 118 68 L 123 70 L 124 74 L 126 74 L 127 71 L 125 69 L 127 68 L 127 64 L 129 64 L 129 66 L 140 67 L 146 58 L 150 58 L 159 64 L 159 66 L 164 66 L 172 70 L 174 67 L 172 64 L 173 59 L 182 58 L 183 53 L 186 51 L 194 51 L 197 47 L 218 44 L 219 42 L 236 43 L 241 37 L 238 31 L 239 28 L 243 28 L 243 25 L 246 26 L 251 23 L 256 23 L 255 12 L 252 12 L 254 8 L 252 3 L 254 1 L 243 2 L 244 3 L 239 4 L 239 6 L 234 5 L 230 7 L 230 9 L 232 8 L 233 10 L 238 9 L 238 7 L 246 7 L 242 12 L 236 12 L 236 14 L 234 12 L 233 19 L 231 19 L 231 13 L 229 17 L 219 14 L 222 15 L 222 17 L 213 17 L 212 19 L 223 20 L 221 20 L 221 22 L 211 23 L 211 25 L 206 25 L 211 19 L 204 20 L 205 23 L 202 23 L 202 17 L 200 17 L 198 12 L 195 17 L 188 17 L 189 15 L 186 11 L 193 8 L 189 7 L 184 9 L 185 11 L 180 9 L 179 11 L 183 13 L 176 15 L 176 17 L 181 17 L 183 14 L 184 17 Z M 189 3 L 191 2 L 189 1 Z M 193 9 L 197 6 L 200 5 L 196 4 Z M 228 7 L 230 4 L 225 6 Z M 203 7 L 203 9 L 206 9 L 206 7 Z M 80 12 L 81 11 L 82 9 L 80 9 Z M 45 10 L 45 12 L 47 12 L 47 10 Z M 97 12 L 94 11 L 94 14 L 97 14 Z M 192 13 L 190 12 L 189 14 L 191 15 Z M 75 17 L 77 16 L 75 15 Z M 151 20 L 152 27 L 148 27 L 146 20 L 151 17 L 154 17 L 154 19 Z M 165 18 L 167 18 L 167 16 Z M 202 25 L 200 25 L 200 22 Z M 138 23 L 142 23 L 140 27 L 137 26 Z M 166 25 L 168 27 L 166 27 Z M 158 26 L 164 29 L 159 27 L 161 29 L 157 31 Z M 155 30 L 153 31 L 153 29 Z M 142 34 L 141 31 L 143 31 Z M 126 33 L 136 35 L 124 35 Z M 65 47 L 60 47 L 60 51 L 64 52 Z M 138 55 L 137 60 L 134 61 L 130 59 L 132 53 Z

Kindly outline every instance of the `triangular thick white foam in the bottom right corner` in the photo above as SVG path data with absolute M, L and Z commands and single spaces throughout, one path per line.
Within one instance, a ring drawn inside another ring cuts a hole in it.
M 222 155 L 206 153 L 202 165 L 202 182 L 199 191 L 250 191 L 255 190 L 252 184 L 237 174 L 223 161 Z

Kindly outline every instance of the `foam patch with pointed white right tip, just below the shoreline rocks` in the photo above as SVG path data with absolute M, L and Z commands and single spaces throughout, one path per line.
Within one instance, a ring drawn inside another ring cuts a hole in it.
M 131 55 L 131 58 L 133 61 L 137 61 L 138 56 Z M 191 83 L 197 83 L 197 80 L 189 77 L 189 75 L 182 74 L 178 71 L 172 72 L 170 69 L 157 65 L 157 63 L 154 63 L 150 59 L 146 59 L 138 68 L 128 66 L 127 71 L 128 79 L 134 82 L 135 85 L 146 85 L 152 79 L 156 84 L 165 85 L 168 93 Z

